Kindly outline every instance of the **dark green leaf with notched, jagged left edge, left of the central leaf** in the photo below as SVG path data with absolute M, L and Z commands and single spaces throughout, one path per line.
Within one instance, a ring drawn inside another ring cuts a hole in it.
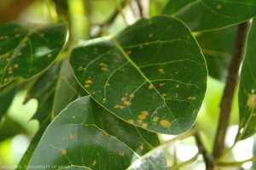
M 38 78 L 37 82 L 32 86 L 29 92 L 26 94 L 26 103 L 29 99 L 38 100 L 38 110 L 32 119 L 38 119 L 40 124 L 44 122 L 47 116 L 52 111 L 55 88 L 58 82 L 61 69 L 61 62 L 55 63 L 51 68 L 44 72 L 44 74 Z

